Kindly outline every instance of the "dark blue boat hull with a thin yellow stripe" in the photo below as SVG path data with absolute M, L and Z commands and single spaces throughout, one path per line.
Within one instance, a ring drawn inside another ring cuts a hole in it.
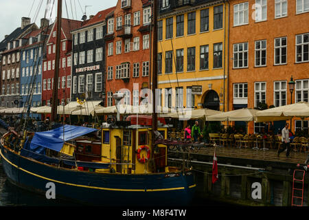
M 187 206 L 194 195 L 192 172 L 159 174 L 94 173 L 49 166 L 1 145 L 3 170 L 21 188 L 99 206 Z M 48 192 L 47 192 L 48 191 Z

